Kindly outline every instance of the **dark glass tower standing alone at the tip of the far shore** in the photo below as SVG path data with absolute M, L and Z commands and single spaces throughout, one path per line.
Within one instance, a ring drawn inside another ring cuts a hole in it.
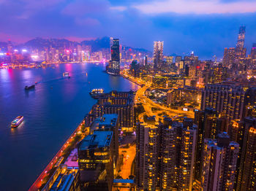
M 111 47 L 111 60 L 106 67 L 106 71 L 109 74 L 118 75 L 120 73 L 120 46 L 119 39 L 113 39 L 113 45 Z

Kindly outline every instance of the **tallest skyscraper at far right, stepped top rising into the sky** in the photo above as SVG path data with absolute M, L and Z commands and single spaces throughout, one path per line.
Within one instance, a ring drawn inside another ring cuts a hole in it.
M 239 28 L 238 41 L 236 43 L 236 59 L 246 57 L 246 48 L 244 47 L 245 26 Z

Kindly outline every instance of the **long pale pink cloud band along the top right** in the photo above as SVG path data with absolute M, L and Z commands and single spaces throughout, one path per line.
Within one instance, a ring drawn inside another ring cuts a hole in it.
M 181 14 L 222 14 L 256 12 L 256 1 L 220 0 L 165 0 L 133 5 L 146 14 L 161 14 L 175 12 Z

